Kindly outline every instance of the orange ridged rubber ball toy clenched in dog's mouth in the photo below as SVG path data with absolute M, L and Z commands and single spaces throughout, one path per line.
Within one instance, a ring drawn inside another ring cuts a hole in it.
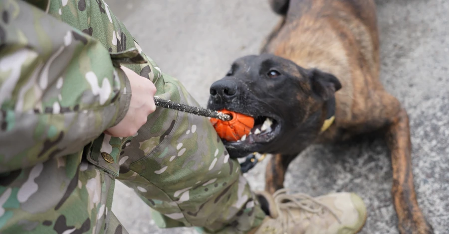
M 211 118 L 211 122 L 214 125 L 215 130 L 222 139 L 227 141 L 237 141 L 241 139 L 242 136 L 248 134 L 254 126 L 253 117 L 228 110 L 222 110 L 220 112 L 232 116 L 232 119 L 229 121 Z

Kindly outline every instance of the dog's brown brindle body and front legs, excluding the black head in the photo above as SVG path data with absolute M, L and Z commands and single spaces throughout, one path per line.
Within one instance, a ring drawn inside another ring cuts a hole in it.
M 413 184 L 409 117 L 379 80 L 379 35 L 374 0 L 270 0 L 281 20 L 262 53 L 319 68 L 342 84 L 335 123 L 315 142 L 336 142 L 381 130 L 391 151 L 392 195 L 401 234 L 431 234 Z M 304 102 L 304 100 L 298 100 Z M 276 154 L 266 168 L 266 190 L 283 187 L 296 155 Z

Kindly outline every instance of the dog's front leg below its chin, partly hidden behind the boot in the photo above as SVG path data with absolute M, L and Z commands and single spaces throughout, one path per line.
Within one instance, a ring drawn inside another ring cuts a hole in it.
M 296 156 L 298 155 L 276 154 L 270 158 L 265 171 L 265 191 L 273 194 L 284 187 L 285 172 Z

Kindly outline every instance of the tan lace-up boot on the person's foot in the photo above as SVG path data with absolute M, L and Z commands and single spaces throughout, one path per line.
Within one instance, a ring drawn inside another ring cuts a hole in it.
M 249 234 L 356 234 L 366 221 L 366 207 L 354 193 L 320 197 L 256 192 L 265 213 L 262 225 Z

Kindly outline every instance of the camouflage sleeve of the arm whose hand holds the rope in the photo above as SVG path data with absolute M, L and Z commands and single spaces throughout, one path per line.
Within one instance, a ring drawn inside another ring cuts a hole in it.
M 0 173 L 80 151 L 123 118 L 120 56 L 26 2 L 0 12 Z

